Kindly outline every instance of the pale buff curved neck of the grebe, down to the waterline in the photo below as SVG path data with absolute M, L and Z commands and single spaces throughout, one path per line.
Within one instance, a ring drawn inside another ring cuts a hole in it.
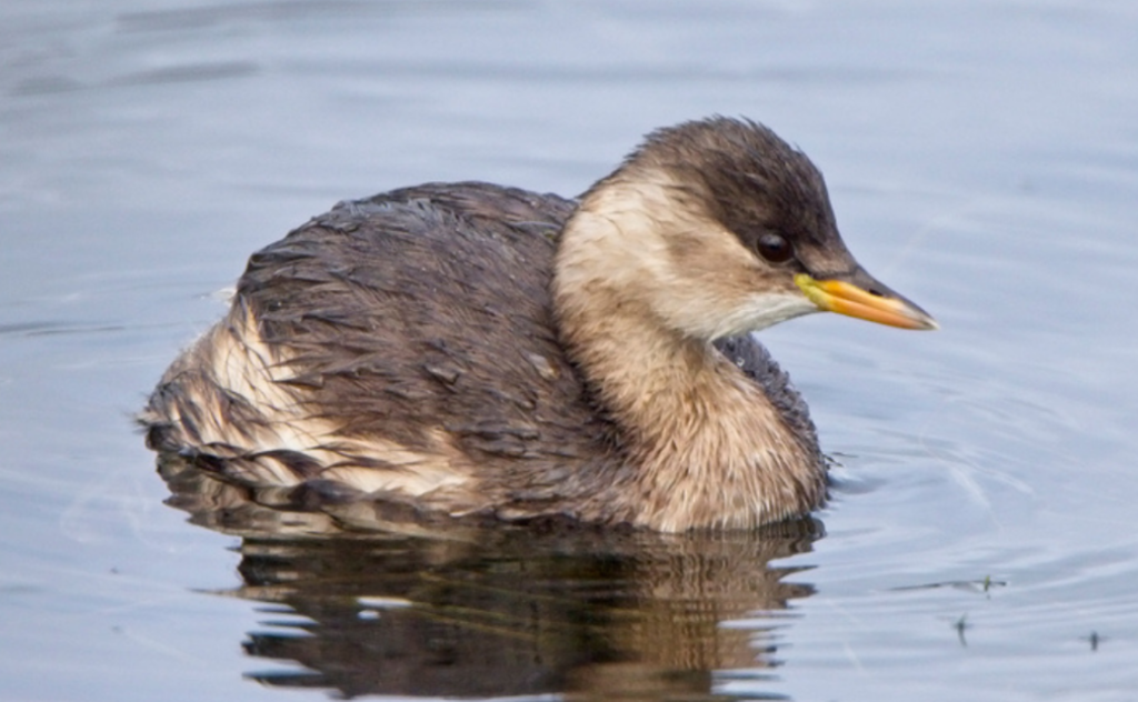
M 816 506 L 817 456 L 770 398 L 637 296 L 636 267 L 652 265 L 651 250 L 628 250 L 628 232 L 646 226 L 637 209 L 595 207 L 586 199 L 562 232 L 553 292 L 562 339 L 634 469 L 610 498 L 665 531 L 745 528 Z

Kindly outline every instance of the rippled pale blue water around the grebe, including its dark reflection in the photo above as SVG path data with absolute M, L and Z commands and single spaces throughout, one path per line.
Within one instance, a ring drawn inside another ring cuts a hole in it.
M 1122 1 L 6 2 L 0 697 L 1135 699 L 1136 32 Z M 824 536 L 162 504 L 131 413 L 251 250 L 407 183 L 579 192 L 711 113 L 801 146 L 943 327 L 764 333 L 842 462 Z

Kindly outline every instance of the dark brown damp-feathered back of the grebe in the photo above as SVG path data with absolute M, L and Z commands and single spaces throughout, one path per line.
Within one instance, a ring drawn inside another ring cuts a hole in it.
M 341 204 L 256 254 L 239 302 L 340 432 L 420 449 L 438 427 L 478 459 L 517 455 L 587 414 L 547 292 L 571 208 L 475 183 Z

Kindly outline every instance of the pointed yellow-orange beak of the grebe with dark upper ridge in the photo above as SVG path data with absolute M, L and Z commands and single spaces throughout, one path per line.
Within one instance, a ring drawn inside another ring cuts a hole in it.
M 826 280 L 799 273 L 794 276 L 794 283 L 811 303 L 826 312 L 901 329 L 939 328 L 927 312 L 881 284 L 861 269 L 849 276 Z

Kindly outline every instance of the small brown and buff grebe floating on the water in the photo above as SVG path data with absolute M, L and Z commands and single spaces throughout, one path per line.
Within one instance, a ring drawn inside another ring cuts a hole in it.
M 338 204 L 250 257 L 141 421 L 254 489 L 748 528 L 825 497 L 806 405 L 748 336 L 818 311 L 935 328 L 846 249 L 803 154 L 714 117 L 578 200 L 465 182 Z

